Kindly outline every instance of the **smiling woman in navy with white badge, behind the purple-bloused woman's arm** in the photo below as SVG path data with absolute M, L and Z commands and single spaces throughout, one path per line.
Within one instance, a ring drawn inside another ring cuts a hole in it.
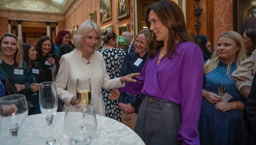
M 147 59 L 148 43 L 152 37 L 153 34 L 149 30 L 142 30 L 137 34 L 134 42 L 136 53 L 129 53 L 125 56 L 119 77 L 130 73 L 141 72 Z M 139 63 L 135 63 L 136 61 Z M 142 93 L 136 95 L 136 97 L 128 93 L 122 93 L 118 98 L 118 105 L 127 116 L 133 112 L 138 114 L 139 105 L 142 102 L 143 96 L 144 95 Z M 125 102 L 125 99 L 127 102 Z

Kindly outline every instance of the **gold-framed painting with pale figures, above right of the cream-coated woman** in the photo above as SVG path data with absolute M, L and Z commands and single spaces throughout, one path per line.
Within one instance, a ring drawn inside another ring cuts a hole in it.
M 108 20 L 111 20 L 111 0 L 100 0 L 99 10 L 100 10 L 100 23 L 104 23 Z

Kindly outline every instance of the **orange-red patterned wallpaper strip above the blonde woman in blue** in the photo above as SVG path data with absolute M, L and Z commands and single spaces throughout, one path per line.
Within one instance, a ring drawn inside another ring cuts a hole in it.
M 214 0 L 214 44 L 219 35 L 233 30 L 232 4 L 233 0 Z

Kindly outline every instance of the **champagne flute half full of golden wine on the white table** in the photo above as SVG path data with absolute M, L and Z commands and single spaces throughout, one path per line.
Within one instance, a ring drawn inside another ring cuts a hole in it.
M 85 116 L 87 105 L 91 102 L 91 83 L 89 77 L 79 77 L 76 82 L 76 98 Z M 87 125 L 83 124 L 82 129 L 86 130 Z

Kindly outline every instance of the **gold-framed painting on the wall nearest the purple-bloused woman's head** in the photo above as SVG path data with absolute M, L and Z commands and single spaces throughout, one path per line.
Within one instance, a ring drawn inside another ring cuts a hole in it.
M 129 0 L 116 0 L 117 19 L 129 16 Z

